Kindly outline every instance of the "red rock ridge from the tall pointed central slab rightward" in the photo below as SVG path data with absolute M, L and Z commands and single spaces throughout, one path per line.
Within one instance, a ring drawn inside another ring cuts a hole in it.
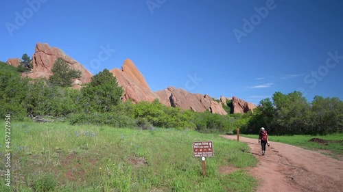
M 231 98 L 221 96 L 220 102 L 217 102 L 207 94 L 193 94 L 176 87 L 167 87 L 165 90 L 152 92 L 143 74 L 139 72 L 130 59 L 124 61 L 121 70 L 115 68 L 110 70 L 110 72 L 115 75 L 119 85 L 123 87 L 123 100 L 132 100 L 132 102 L 137 103 L 140 101 L 152 102 L 154 99 L 158 99 L 163 105 L 180 107 L 182 110 L 191 109 L 198 112 L 208 110 L 211 113 L 227 114 L 222 107 L 222 103 L 226 105 L 226 100 L 231 100 Z M 246 113 L 244 111 L 248 111 L 251 108 L 253 107 L 248 102 L 239 100 L 239 104 L 236 105 L 236 113 Z

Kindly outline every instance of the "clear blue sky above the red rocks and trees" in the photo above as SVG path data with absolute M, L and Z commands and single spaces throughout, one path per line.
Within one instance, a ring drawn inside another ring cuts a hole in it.
M 343 100 L 343 2 L 316 0 L 1 1 L 0 60 L 46 42 L 89 71 L 132 59 L 153 91 L 274 92 Z M 99 53 L 107 57 L 99 61 Z M 106 56 L 106 55 L 105 55 Z M 99 63 L 94 61 L 98 60 Z

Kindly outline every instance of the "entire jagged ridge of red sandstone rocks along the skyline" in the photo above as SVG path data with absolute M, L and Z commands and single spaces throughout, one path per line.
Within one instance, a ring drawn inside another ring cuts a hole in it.
M 45 77 L 49 78 L 52 74 L 51 68 L 58 58 L 62 58 L 74 70 L 80 70 L 82 77 L 74 79 L 74 87 L 80 88 L 82 83 L 91 81 L 93 74 L 88 72 L 82 64 L 75 59 L 66 55 L 62 50 L 50 47 L 48 44 L 36 44 L 35 53 L 32 57 L 33 69 L 31 72 L 23 73 L 23 76 L 28 76 L 33 79 Z M 18 66 L 21 59 L 8 59 L 7 63 L 12 66 Z M 218 113 L 225 115 L 226 111 L 223 109 L 223 104 L 226 105 L 227 100 L 232 100 L 233 113 L 246 113 L 252 111 L 256 106 L 252 103 L 246 102 L 239 98 L 226 98 L 220 96 L 220 100 L 213 100 L 208 94 L 194 94 L 186 90 L 176 87 L 167 87 L 165 90 L 152 92 L 149 85 L 145 81 L 143 74 L 138 70 L 130 59 L 123 62 L 121 69 L 115 68 L 110 70 L 117 78 L 121 87 L 123 87 L 123 100 L 132 100 L 132 102 L 149 101 L 155 99 L 160 100 L 163 105 L 170 107 L 180 107 L 182 110 L 191 109 L 193 111 L 204 112 L 206 110 L 211 113 Z

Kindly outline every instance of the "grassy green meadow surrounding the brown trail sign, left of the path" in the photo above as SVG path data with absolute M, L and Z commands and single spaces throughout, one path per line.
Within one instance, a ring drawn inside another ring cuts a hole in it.
M 4 122 L 1 122 L 4 127 Z M 0 191 L 255 191 L 246 144 L 214 134 L 142 131 L 67 123 L 12 122 L 12 189 Z M 5 131 L 1 131 L 1 156 Z M 214 156 L 193 158 L 193 141 L 213 141 Z M 220 166 L 237 167 L 220 174 Z M 0 162 L 5 170 L 5 160 Z

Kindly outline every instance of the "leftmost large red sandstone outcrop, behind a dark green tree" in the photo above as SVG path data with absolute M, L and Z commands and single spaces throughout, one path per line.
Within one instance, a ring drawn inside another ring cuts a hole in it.
M 93 74 L 86 70 L 82 64 L 80 64 L 75 59 L 69 57 L 62 50 L 51 47 L 49 44 L 37 43 L 35 53 L 32 56 L 33 69 L 31 72 L 26 73 L 28 77 L 32 79 L 37 79 L 40 77 L 45 77 L 49 79 L 52 74 L 51 68 L 54 66 L 55 61 L 58 58 L 62 58 L 69 64 L 69 66 L 74 70 L 80 70 L 82 77 L 80 79 L 75 79 L 74 84 L 88 83 L 91 81 Z

